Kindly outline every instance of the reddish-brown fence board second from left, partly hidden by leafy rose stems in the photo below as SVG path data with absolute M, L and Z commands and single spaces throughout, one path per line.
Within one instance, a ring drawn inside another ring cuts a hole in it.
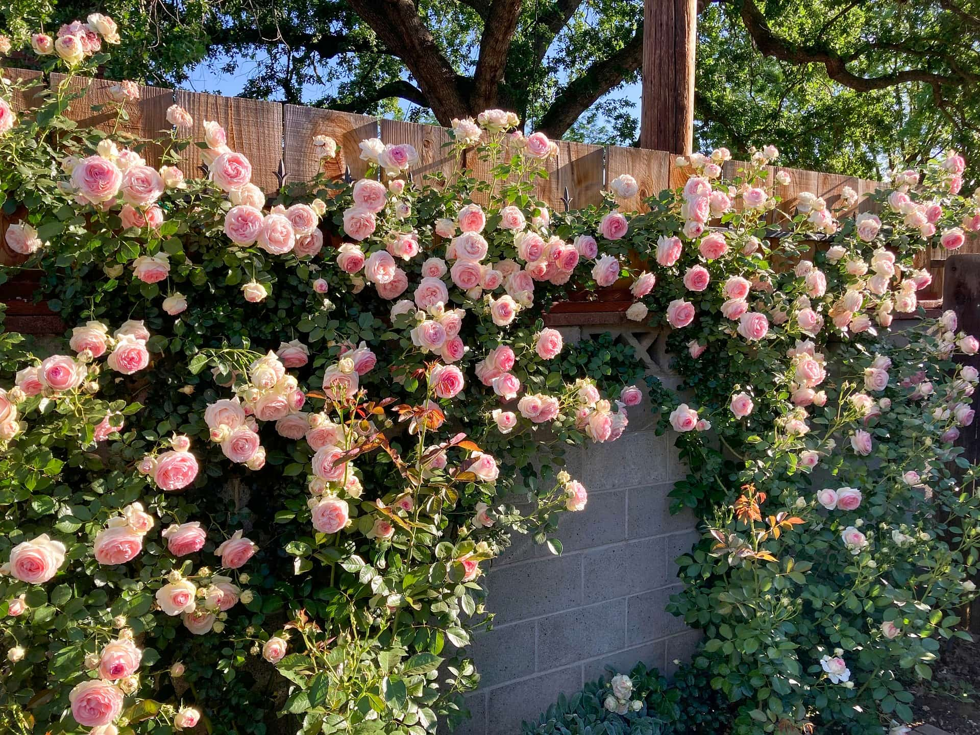
M 65 74 L 51 74 L 51 88 L 57 88 L 66 78 Z M 123 105 L 127 120 L 121 120 L 117 127 L 118 103 L 109 95 L 112 85 L 113 82 L 108 79 L 74 76 L 69 81 L 67 90 L 81 93 L 81 96 L 72 101 L 67 112 L 68 117 L 78 123 L 79 127 L 98 127 L 106 132 L 118 129 L 137 141 L 130 144 L 130 147 L 138 150 L 148 165 L 160 166 L 163 150 L 156 143 L 145 141 L 159 137 L 163 130 L 171 129 L 171 123 L 167 122 L 167 108 L 173 104 L 173 90 L 140 85 L 139 99 Z M 93 107 L 101 109 L 93 110 Z

